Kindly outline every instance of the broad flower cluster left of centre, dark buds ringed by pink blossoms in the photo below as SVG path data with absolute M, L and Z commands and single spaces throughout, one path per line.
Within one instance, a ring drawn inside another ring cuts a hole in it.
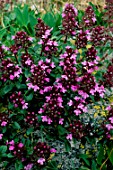
M 27 78 L 28 89 L 39 91 L 41 94 L 44 93 L 46 85 L 50 82 L 49 74 L 55 65 L 49 59 L 44 62 L 40 60 L 38 65 L 31 66 L 31 76 Z

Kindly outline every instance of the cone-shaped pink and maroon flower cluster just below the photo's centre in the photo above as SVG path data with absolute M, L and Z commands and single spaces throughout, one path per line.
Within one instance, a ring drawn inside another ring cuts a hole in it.
M 39 114 L 42 114 L 42 122 L 46 122 L 47 124 L 57 123 L 62 125 L 64 121 L 62 118 L 62 115 L 64 114 L 62 104 L 62 95 L 59 88 L 54 85 L 51 87 L 50 95 L 46 96 L 46 102 L 38 111 Z

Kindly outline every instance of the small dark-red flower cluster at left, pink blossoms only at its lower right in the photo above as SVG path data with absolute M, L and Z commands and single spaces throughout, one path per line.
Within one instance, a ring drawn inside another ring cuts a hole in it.
M 27 109 L 28 108 L 28 103 L 25 102 L 23 99 L 21 91 L 19 92 L 14 92 L 10 96 L 10 101 L 14 104 L 14 107 L 21 107 L 22 109 Z

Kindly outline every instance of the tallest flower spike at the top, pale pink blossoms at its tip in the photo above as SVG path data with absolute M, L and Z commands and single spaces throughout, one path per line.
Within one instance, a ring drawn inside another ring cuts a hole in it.
M 77 9 L 72 4 L 66 4 L 62 13 L 62 26 L 61 30 L 64 35 L 75 35 L 75 29 L 78 27 L 78 23 L 75 17 L 78 15 Z

